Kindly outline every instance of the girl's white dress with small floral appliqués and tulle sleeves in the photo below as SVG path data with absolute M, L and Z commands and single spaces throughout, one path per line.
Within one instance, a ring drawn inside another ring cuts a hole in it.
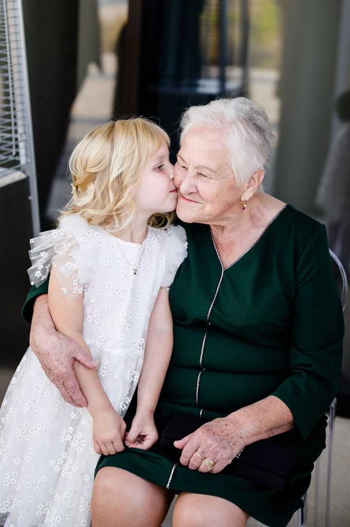
M 124 416 L 159 287 L 172 284 L 187 254 L 184 229 L 148 227 L 138 245 L 71 215 L 31 242 L 32 282 L 46 279 L 53 258 L 67 300 L 84 293 L 83 337 L 105 392 Z M 8 526 L 88 527 L 98 460 L 92 418 L 63 401 L 31 348 L 8 387 L 0 427 L 0 513 L 11 511 Z

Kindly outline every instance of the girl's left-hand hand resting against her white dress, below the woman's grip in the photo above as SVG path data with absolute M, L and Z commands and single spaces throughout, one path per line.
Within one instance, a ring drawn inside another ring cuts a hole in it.
M 113 407 L 93 418 L 93 440 L 97 454 L 116 454 L 124 450 L 126 424 Z

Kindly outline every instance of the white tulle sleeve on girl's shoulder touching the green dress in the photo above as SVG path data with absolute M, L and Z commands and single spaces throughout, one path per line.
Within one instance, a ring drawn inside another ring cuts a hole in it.
M 176 271 L 187 256 L 186 232 L 180 225 L 171 225 L 166 229 L 166 268 L 161 287 L 170 287 Z

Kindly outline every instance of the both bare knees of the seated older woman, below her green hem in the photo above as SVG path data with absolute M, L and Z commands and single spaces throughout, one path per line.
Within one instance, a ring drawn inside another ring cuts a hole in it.
M 174 495 L 174 491 L 133 473 L 105 466 L 96 475 L 93 524 L 160 527 Z M 235 504 L 220 497 L 181 492 L 174 508 L 173 527 L 244 527 L 248 518 Z

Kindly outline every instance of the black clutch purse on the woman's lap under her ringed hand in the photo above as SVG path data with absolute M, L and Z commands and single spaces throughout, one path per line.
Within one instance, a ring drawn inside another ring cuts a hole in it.
M 204 419 L 178 412 L 164 428 L 161 446 L 181 455 L 182 450 L 174 446 L 174 441 L 191 434 L 204 423 L 207 423 Z M 283 492 L 295 473 L 298 461 L 299 453 L 292 448 L 264 439 L 245 446 L 223 472 Z

